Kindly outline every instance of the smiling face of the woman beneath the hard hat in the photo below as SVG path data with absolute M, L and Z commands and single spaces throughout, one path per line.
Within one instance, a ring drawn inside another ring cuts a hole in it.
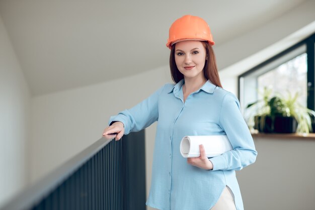
M 201 41 L 181 41 L 175 45 L 175 62 L 184 79 L 203 79 L 206 49 Z

